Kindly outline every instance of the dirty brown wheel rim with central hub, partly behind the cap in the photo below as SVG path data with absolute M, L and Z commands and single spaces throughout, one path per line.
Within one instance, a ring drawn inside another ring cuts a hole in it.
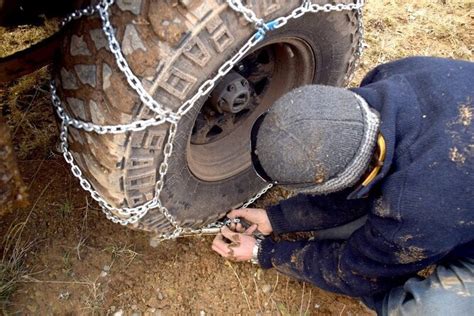
M 221 181 L 249 168 L 253 122 L 284 93 L 310 84 L 315 67 L 311 47 L 299 38 L 275 39 L 250 52 L 216 86 L 195 120 L 186 155 L 193 175 Z

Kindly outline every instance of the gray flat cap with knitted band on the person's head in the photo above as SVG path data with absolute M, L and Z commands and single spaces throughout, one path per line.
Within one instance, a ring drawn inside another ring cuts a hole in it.
M 297 88 L 254 125 L 252 161 L 267 181 L 314 194 L 336 192 L 367 170 L 379 124 L 378 113 L 352 91 Z

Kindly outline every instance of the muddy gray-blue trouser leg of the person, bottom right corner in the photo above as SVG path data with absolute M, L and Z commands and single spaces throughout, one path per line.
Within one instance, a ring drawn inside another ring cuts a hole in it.
M 382 315 L 474 315 L 474 259 L 439 265 L 426 279 L 410 278 L 384 298 Z

